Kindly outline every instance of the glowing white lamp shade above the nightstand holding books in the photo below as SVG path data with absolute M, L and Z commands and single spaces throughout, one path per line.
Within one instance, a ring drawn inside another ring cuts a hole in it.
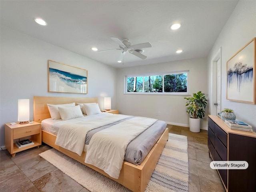
M 18 121 L 29 121 L 29 99 L 18 99 Z

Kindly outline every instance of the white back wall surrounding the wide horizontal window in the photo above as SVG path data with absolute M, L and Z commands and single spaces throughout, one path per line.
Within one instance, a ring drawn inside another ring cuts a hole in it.
M 189 115 L 186 113 L 186 100 L 184 97 L 190 97 L 190 95 L 124 94 L 124 79 L 126 75 L 181 70 L 190 71 L 190 94 L 202 91 L 208 96 L 206 58 L 121 68 L 117 70 L 116 78 L 116 97 L 119 112 L 121 114 L 157 118 L 168 122 L 168 124 L 188 127 Z M 160 112 L 160 115 L 156 115 L 156 112 Z M 208 116 L 207 113 L 206 116 Z M 207 118 L 201 120 L 201 129 L 207 129 Z

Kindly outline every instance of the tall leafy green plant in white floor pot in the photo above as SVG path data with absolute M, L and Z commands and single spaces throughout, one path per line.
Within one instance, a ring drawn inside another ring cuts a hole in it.
M 192 132 L 200 132 L 200 118 L 204 117 L 204 108 L 206 108 L 207 100 L 204 93 L 201 91 L 193 93 L 192 97 L 185 97 L 188 100 L 186 102 L 187 113 L 191 114 L 192 117 L 189 118 L 189 128 Z

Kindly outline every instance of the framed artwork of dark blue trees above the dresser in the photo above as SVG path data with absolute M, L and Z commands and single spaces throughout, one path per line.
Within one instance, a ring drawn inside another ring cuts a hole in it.
M 256 38 L 227 62 L 227 100 L 256 104 Z

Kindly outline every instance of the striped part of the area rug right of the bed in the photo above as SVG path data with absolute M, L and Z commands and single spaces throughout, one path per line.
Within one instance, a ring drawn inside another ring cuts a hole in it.
M 152 190 L 153 189 L 153 190 Z M 146 192 L 188 192 L 188 141 L 170 134 Z

